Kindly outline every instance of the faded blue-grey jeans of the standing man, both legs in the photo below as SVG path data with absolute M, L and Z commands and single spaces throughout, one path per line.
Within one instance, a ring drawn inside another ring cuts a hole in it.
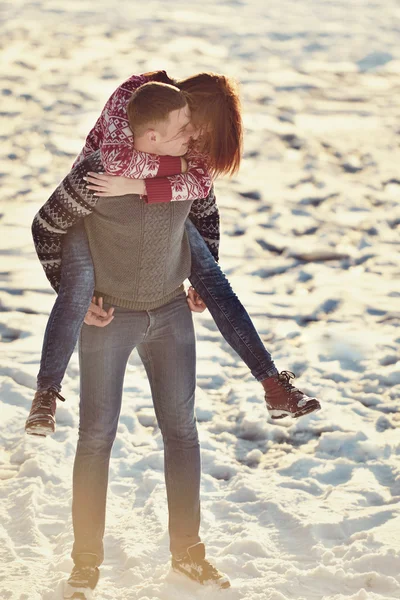
M 73 476 L 75 562 L 103 561 L 108 466 L 128 358 L 137 348 L 164 441 L 173 555 L 200 542 L 200 447 L 194 415 L 196 348 L 186 295 L 151 311 L 116 307 L 107 327 L 83 325 L 80 423 Z

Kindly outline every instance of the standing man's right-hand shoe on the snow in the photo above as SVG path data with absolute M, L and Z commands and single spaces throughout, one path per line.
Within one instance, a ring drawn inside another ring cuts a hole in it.
M 231 586 L 229 577 L 216 569 L 205 558 L 206 550 L 204 544 L 195 544 L 187 549 L 182 557 L 172 557 L 172 568 L 178 573 L 190 577 L 202 585 L 214 584 L 219 588 Z

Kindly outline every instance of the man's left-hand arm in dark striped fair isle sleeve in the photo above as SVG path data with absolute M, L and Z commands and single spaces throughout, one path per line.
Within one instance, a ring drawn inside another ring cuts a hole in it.
M 91 168 L 100 169 L 91 159 Z M 58 293 L 61 282 L 62 240 L 67 230 L 93 212 L 98 198 L 86 189 L 85 166 L 78 165 L 63 179 L 47 202 L 35 215 L 32 236 L 35 250 L 47 279 Z

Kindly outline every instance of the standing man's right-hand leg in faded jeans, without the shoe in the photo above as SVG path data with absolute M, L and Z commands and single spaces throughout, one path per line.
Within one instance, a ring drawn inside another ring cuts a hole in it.
M 179 555 L 200 542 L 195 335 L 184 294 L 149 314 L 149 332 L 137 349 L 150 381 L 164 440 L 170 550 Z

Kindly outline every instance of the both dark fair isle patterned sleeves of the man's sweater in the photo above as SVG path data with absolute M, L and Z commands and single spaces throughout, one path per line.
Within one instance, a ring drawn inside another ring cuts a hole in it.
M 81 160 L 70 171 L 33 220 L 35 249 L 46 277 L 56 292 L 61 281 L 63 237 L 69 227 L 93 212 L 99 200 L 86 187 L 84 177 L 89 171 L 104 171 L 99 150 Z M 213 188 L 207 198 L 193 202 L 189 217 L 215 260 L 218 260 L 219 215 Z

